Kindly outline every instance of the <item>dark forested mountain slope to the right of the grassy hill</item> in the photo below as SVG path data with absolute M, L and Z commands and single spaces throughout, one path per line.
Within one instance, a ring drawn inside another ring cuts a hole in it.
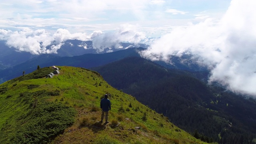
M 205 71 L 167 69 L 139 57 L 93 70 L 113 87 L 164 114 L 198 139 L 220 144 L 256 144 L 256 100 L 206 84 Z

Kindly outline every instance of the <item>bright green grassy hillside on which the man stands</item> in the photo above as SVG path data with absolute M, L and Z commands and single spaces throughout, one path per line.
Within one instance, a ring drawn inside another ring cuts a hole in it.
M 37 70 L 0 85 L 0 143 L 203 143 L 98 73 L 60 68 L 53 78 L 31 79 Z M 112 102 L 107 125 L 98 123 L 106 93 Z

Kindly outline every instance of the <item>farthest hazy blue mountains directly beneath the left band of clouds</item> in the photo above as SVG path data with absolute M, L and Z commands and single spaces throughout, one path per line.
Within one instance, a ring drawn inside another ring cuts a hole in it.
M 146 48 L 145 44 L 131 44 L 131 43 L 120 43 L 121 48 L 115 48 L 114 46 L 106 48 L 101 52 L 98 52 L 92 46 L 92 41 L 81 41 L 81 40 L 66 40 L 64 44 L 57 50 L 55 56 L 80 56 L 83 54 L 104 54 L 107 52 L 115 52 L 118 50 L 124 50 L 131 47 L 143 47 Z M 50 48 L 48 46 L 47 48 Z M 35 58 L 40 55 L 33 55 L 29 52 L 19 52 L 15 48 L 9 48 L 6 46 L 6 41 L 0 41 L 0 70 L 10 68 L 17 64 L 21 64 Z

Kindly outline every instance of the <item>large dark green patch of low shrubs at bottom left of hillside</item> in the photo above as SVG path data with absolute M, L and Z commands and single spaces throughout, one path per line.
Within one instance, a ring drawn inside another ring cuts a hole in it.
M 46 144 L 74 123 L 75 113 L 73 108 L 64 104 L 42 102 L 27 116 L 18 118 L 26 123 L 17 121 L 17 130 L 16 126 L 9 126 L 12 133 L 8 129 L 1 130 L 0 143 L 8 141 L 13 144 Z

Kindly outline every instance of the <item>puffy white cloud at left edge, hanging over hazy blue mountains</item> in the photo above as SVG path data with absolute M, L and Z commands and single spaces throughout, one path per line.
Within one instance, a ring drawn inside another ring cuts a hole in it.
M 70 34 L 68 30 L 58 29 L 54 34 L 44 29 L 22 31 L 0 30 L 0 39 L 6 40 L 6 45 L 18 51 L 30 52 L 32 54 L 56 53 L 63 42 L 68 39 L 87 40 L 85 33 Z M 50 46 L 47 49 L 47 46 Z

